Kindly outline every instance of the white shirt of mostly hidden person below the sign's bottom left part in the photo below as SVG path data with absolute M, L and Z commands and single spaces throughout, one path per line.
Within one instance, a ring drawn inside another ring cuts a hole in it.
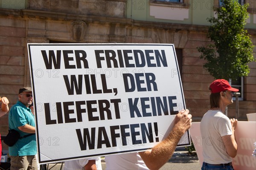
M 89 160 L 95 160 L 97 170 L 102 170 L 100 157 L 65 161 L 64 170 L 84 170 L 83 168 L 88 163 Z

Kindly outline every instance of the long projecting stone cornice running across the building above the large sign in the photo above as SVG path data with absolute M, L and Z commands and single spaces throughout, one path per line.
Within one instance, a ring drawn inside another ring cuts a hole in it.
M 105 17 L 100 15 L 86 15 L 86 14 L 73 14 L 73 13 L 64 13 L 64 12 L 55 12 L 55 11 L 40 11 L 40 10 L 31 10 L 31 9 L 5 9 L 1 8 L 0 15 L 3 16 L 15 16 L 15 17 L 29 17 L 39 19 L 48 19 L 48 20 L 81 20 L 86 23 L 93 22 L 102 22 L 102 23 L 117 23 L 123 24 L 131 27 L 146 27 L 146 28 L 159 28 L 167 30 L 189 30 L 189 31 L 208 31 L 209 26 L 201 25 L 191 25 L 191 24 L 178 24 L 178 23 L 163 23 L 163 22 L 151 22 L 151 21 L 140 21 L 132 20 L 129 18 L 120 18 L 120 17 Z M 248 33 L 251 35 L 256 34 L 255 29 L 247 29 Z

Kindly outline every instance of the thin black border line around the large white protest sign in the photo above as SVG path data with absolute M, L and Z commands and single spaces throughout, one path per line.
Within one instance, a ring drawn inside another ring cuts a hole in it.
M 31 50 L 30 50 L 30 46 L 71 46 L 71 45 L 80 45 L 80 46 L 93 46 L 93 45 L 96 45 L 96 46 L 106 46 L 106 45 L 119 45 L 119 46 L 122 46 L 122 45 L 126 45 L 126 46 L 134 46 L 134 45 L 140 45 L 140 46 L 171 46 L 173 51 L 174 51 L 174 55 L 175 55 L 175 63 L 176 63 L 176 67 L 177 67 L 177 70 L 178 70 L 178 77 L 179 77 L 179 82 L 180 82 L 180 90 L 181 90 L 181 94 L 182 94 L 182 101 L 183 101 L 183 106 L 184 106 L 184 109 L 186 109 L 186 105 L 185 105 L 185 99 L 184 99 L 184 94 L 183 94 L 183 88 L 182 88 L 182 82 L 181 82 L 181 79 L 180 79 L 180 70 L 179 70 L 179 67 L 178 67 L 178 62 L 177 62 L 177 55 L 176 55 L 176 51 L 175 51 L 175 47 L 174 47 L 174 44 L 151 44 L 151 43 L 148 43 L 148 44 L 119 44 L 119 43 L 106 43 L 106 44 L 88 44 L 88 43 L 58 43 L 58 44 L 51 44 L 51 43 L 43 43 L 43 44 L 34 44 L 34 43 L 28 43 L 28 54 L 29 54 L 29 63 L 30 63 L 30 75 L 31 75 L 31 81 L 32 81 L 32 88 L 33 88 L 33 96 L 34 96 L 34 107 L 35 107 L 35 112 L 37 111 L 36 110 L 36 97 L 35 97 L 35 87 L 34 87 L 34 75 L 33 75 L 33 67 L 32 67 L 32 59 L 31 59 Z M 37 114 L 35 114 L 37 115 Z M 36 121 L 36 126 L 38 125 L 38 119 L 37 119 L 37 116 L 35 116 L 35 121 Z M 36 132 L 38 134 L 38 128 L 36 128 Z M 187 135 L 189 136 L 189 131 L 187 131 Z M 39 146 L 39 137 L 37 135 L 37 141 L 38 141 L 38 152 L 40 153 L 40 146 Z M 189 144 L 191 143 L 190 142 L 190 139 L 188 138 L 188 141 L 189 141 Z M 187 144 L 178 144 L 177 146 L 184 146 L 184 145 L 187 145 Z M 128 153 L 128 152 L 134 152 L 134 151 L 140 151 L 140 150 L 147 150 L 147 149 L 150 149 L 150 148 L 143 148 L 143 149 L 136 149 L 136 150 L 125 150 L 125 151 L 119 151 L 119 152 L 111 152 L 111 153 L 106 153 L 104 155 L 112 155 L 112 154 L 116 154 L 116 153 Z M 72 157 L 70 159 L 78 159 L 78 158 L 87 158 L 87 157 L 95 157 L 95 156 L 102 156 L 102 154 L 94 154 L 94 155 L 87 155 L 87 156 L 77 156 L 77 157 Z M 67 159 L 52 159 L 52 161 L 41 161 L 41 156 L 40 154 L 38 154 L 38 161 L 39 163 L 48 163 L 48 162 L 57 162 L 57 161 L 63 161 L 63 160 L 67 160 Z

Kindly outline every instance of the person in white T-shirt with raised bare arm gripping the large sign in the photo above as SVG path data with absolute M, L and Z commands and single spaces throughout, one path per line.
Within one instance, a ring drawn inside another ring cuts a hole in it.
M 169 135 L 150 150 L 105 156 L 106 170 L 158 170 L 171 157 L 181 136 L 191 127 L 189 110 L 180 111 Z

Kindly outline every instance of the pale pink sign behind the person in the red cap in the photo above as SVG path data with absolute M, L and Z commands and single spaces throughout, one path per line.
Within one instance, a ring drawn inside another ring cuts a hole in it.
M 201 140 L 203 136 L 201 136 L 200 132 L 200 122 L 192 122 L 189 130 L 199 163 L 202 164 L 204 161 Z M 256 157 L 252 156 L 252 153 L 255 149 L 253 143 L 256 142 L 256 122 L 239 121 L 236 127 L 236 142 L 238 144 L 238 152 L 232 161 L 234 169 L 255 170 Z

